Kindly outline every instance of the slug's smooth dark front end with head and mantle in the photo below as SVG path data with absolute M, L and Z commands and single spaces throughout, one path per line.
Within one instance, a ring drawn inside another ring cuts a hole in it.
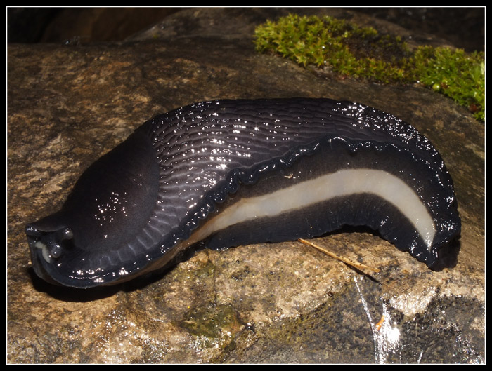
M 120 281 L 136 265 L 128 241 L 148 222 L 158 180 L 155 150 L 137 130 L 82 174 L 61 210 L 27 224 L 36 274 L 77 288 Z

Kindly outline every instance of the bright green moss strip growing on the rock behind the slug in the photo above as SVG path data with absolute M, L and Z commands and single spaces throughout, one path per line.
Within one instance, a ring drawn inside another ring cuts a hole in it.
M 273 51 L 299 65 L 326 67 L 345 76 L 381 83 L 415 83 L 468 107 L 484 120 L 484 53 L 422 46 L 410 51 L 399 36 L 380 35 L 325 16 L 287 15 L 255 29 L 260 53 Z

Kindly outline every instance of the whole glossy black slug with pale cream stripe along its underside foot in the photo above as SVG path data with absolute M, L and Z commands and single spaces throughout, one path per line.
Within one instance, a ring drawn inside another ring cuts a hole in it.
M 26 234 L 38 276 L 89 288 L 160 269 L 202 240 L 226 248 L 343 225 L 434 267 L 461 222 L 426 137 L 353 102 L 216 100 L 145 122 Z

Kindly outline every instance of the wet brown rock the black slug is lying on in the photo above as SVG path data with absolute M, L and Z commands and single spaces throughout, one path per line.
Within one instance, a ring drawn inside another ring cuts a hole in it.
M 8 363 L 484 362 L 484 124 L 419 86 L 255 53 L 255 25 L 287 12 L 189 9 L 123 43 L 8 46 Z M 408 35 L 346 10 L 308 12 Z M 25 223 L 59 208 L 82 171 L 146 119 L 202 100 L 294 96 L 363 102 L 429 137 L 455 182 L 455 267 L 431 271 L 357 229 L 315 241 L 378 274 L 286 242 L 200 250 L 104 290 L 34 276 Z

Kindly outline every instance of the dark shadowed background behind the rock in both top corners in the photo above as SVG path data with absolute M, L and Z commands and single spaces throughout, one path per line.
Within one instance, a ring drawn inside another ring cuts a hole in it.
M 183 8 L 8 8 L 8 43 L 122 41 Z M 484 50 L 485 8 L 351 8 L 467 51 Z

